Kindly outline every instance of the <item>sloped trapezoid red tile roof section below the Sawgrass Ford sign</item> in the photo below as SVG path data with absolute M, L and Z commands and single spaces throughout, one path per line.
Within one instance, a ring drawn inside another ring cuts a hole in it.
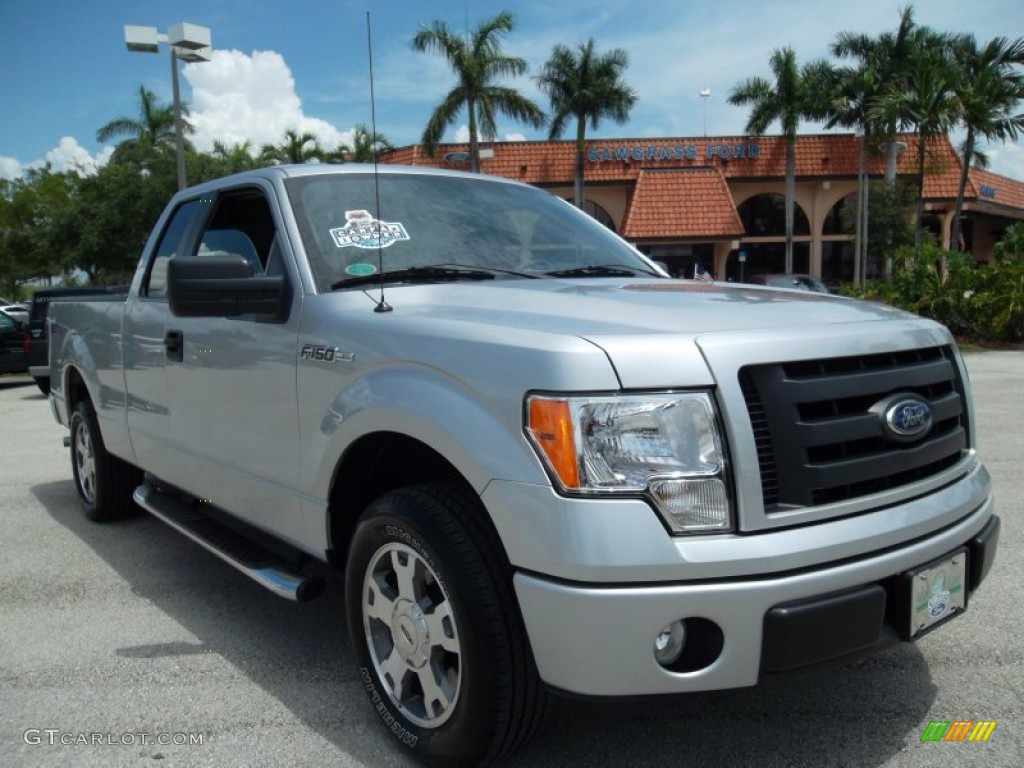
M 740 238 L 743 225 L 716 168 L 642 170 L 623 219 L 628 240 Z

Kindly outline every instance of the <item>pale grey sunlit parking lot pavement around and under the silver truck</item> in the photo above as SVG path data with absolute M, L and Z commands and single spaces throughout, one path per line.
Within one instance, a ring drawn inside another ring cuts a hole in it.
M 964 616 L 771 687 L 554 699 L 507 765 L 1024 765 L 1024 352 L 967 359 L 1002 535 Z M 89 522 L 65 434 L 31 380 L 0 377 L 0 766 L 414 765 L 353 674 L 340 583 L 296 605 L 152 517 Z M 997 725 L 922 742 L 932 720 Z

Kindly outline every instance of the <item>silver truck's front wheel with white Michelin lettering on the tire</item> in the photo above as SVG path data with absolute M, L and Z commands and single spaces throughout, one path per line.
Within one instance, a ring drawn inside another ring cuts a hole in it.
M 458 485 L 400 488 L 370 505 L 349 548 L 360 682 L 385 727 L 428 764 L 498 760 L 544 717 L 512 569 L 485 516 Z

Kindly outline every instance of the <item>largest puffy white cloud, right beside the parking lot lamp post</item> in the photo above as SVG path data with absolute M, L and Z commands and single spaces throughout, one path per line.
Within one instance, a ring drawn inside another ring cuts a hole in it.
M 311 133 L 325 150 L 351 144 L 351 131 L 303 113 L 292 71 L 275 51 L 214 50 L 210 61 L 186 65 L 184 76 L 193 88 L 191 142 L 201 152 L 214 140 L 250 140 L 258 150 L 281 143 L 288 130 Z

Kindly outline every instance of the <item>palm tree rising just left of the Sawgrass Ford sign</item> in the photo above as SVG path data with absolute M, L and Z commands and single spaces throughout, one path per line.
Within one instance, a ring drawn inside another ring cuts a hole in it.
M 541 90 L 551 99 L 551 125 L 548 138 L 562 135 L 570 118 L 577 121 L 575 184 L 572 200 L 584 206 L 584 150 L 587 124 L 595 131 L 603 118 L 622 125 L 630 118 L 636 92 L 622 80 L 629 66 L 629 54 L 615 48 L 604 54 L 594 51 L 594 39 L 580 43 L 575 51 L 558 44 L 537 78 Z

